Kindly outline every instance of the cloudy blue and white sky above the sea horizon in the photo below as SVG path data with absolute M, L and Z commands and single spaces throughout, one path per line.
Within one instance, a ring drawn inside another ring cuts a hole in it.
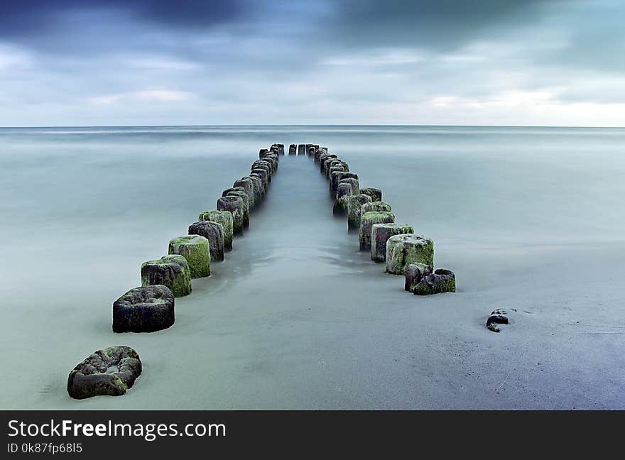
M 0 126 L 625 126 L 622 0 L 2 0 Z

